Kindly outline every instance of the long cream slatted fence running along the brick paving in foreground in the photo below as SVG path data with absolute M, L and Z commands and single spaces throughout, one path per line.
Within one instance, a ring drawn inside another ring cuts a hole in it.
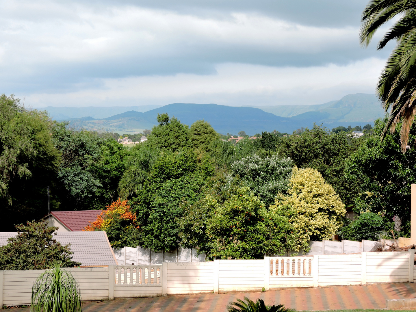
M 414 282 L 414 252 L 265 257 L 262 260 L 163 262 L 69 269 L 82 300 L 154 297 L 202 292 L 260 291 L 282 287 Z M 0 271 L 0 307 L 29 305 L 43 270 Z

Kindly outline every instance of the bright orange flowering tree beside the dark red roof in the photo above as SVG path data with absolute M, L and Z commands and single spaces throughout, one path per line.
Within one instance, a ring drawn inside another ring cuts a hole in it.
M 106 208 L 97 215 L 97 220 L 85 227 L 84 231 L 106 231 L 111 247 L 136 247 L 140 226 L 128 201 L 121 201 L 119 198 Z

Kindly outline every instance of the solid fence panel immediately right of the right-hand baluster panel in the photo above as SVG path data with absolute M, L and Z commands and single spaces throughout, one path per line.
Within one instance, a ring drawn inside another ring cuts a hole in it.
M 318 285 L 360 285 L 361 255 L 320 255 Z

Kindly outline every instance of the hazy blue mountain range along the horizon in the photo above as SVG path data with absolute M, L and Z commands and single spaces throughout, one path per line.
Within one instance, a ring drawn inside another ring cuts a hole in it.
M 134 107 L 134 109 L 132 109 Z M 332 129 L 336 126 L 364 126 L 372 124 L 375 119 L 384 116 L 379 101 L 374 94 L 349 94 L 338 101 L 331 101 L 320 105 L 296 106 L 224 106 L 217 104 L 189 104 L 173 103 L 154 109 L 148 106 L 116 107 L 118 111 L 130 109 L 110 117 L 102 117 L 104 108 L 84 108 L 85 112 L 94 112 L 94 116 L 77 116 L 69 107 L 49 106 L 46 110 L 54 119 L 65 114 L 72 118 L 67 120 L 75 129 L 104 130 L 119 133 L 137 133 L 144 129 L 151 129 L 157 124 L 157 114 L 168 113 L 175 116 L 182 123 L 191 125 L 198 119 L 208 121 L 215 131 L 222 134 L 237 134 L 245 131 L 247 134 L 261 133 L 262 131 L 277 130 L 292 133 L 301 127 L 311 128 L 314 123 Z M 80 108 L 78 108 L 80 109 Z M 108 107 L 106 109 L 109 109 Z M 115 107 L 111 108 L 111 110 Z M 138 110 L 141 111 L 138 111 Z M 82 114 L 79 110 L 77 114 Z M 77 117 L 75 117 L 77 116 Z

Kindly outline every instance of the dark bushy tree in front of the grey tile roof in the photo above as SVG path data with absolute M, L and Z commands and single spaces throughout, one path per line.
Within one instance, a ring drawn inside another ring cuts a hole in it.
M 58 227 L 28 221 L 27 225 L 16 225 L 16 229 L 17 236 L 0 247 L 0 270 L 44 270 L 54 261 L 67 267 L 81 265 L 71 260 L 70 244 L 62 246 L 53 238 Z

